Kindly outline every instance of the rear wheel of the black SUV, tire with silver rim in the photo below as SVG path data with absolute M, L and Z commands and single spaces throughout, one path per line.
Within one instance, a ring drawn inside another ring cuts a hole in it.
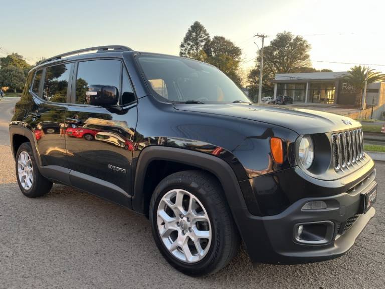
M 36 198 L 51 190 L 52 182 L 40 174 L 29 142 L 22 143 L 19 147 L 16 153 L 15 168 L 19 188 L 25 196 Z M 32 173 L 27 174 L 27 171 L 32 171 Z M 23 175 L 25 176 L 23 177 Z

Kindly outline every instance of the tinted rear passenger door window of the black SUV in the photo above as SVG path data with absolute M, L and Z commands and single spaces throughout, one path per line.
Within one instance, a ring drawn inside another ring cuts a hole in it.
M 52 102 L 67 102 L 68 79 L 71 64 L 60 64 L 46 68 L 43 98 Z

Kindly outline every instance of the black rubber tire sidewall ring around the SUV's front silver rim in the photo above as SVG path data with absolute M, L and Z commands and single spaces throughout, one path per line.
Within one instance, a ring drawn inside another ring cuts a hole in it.
M 161 198 L 170 190 L 182 189 L 196 196 L 202 205 L 205 207 L 206 212 L 210 219 L 210 226 L 212 231 L 212 240 L 210 243 L 209 251 L 206 256 L 196 263 L 185 263 L 174 257 L 168 249 L 164 246 L 163 241 L 159 235 L 157 226 L 157 209 Z M 167 182 L 161 182 L 155 189 L 152 197 L 149 217 L 152 225 L 152 233 L 155 239 L 155 243 L 159 248 L 163 256 L 168 262 L 176 269 L 183 271 L 189 275 L 200 275 L 202 272 L 214 270 L 217 260 L 220 258 L 221 251 L 223 249 L 223 242 L 221 236 L 224 235 L 223 226 L 216 214 L 216 206 L 214 202 L 209 198 L 207 192 L 200 187 L 197 183 L 191 180 L 183 180 L 181 178 L 175 178 L 167 180 Z

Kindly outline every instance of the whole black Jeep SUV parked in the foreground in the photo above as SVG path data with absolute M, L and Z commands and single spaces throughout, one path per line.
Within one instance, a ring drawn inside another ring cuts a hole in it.
M 47 59 L 9 130 L 26 196 L 61 183 L 146 215 L 190 275 L 224 267 L 241 240 L 253 262 L 341 256 L 375 213 L 359 122 L 253 105 L 191 59 L 124 46 Z

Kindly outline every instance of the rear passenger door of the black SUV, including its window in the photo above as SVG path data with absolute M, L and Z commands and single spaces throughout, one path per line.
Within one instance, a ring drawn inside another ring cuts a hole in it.
M 73 65 L 64 63 L 37 70 L 30 89 L 33 105 L 25 122 L 34 133 L 42 166 L 69 168 L 64 124 Z

